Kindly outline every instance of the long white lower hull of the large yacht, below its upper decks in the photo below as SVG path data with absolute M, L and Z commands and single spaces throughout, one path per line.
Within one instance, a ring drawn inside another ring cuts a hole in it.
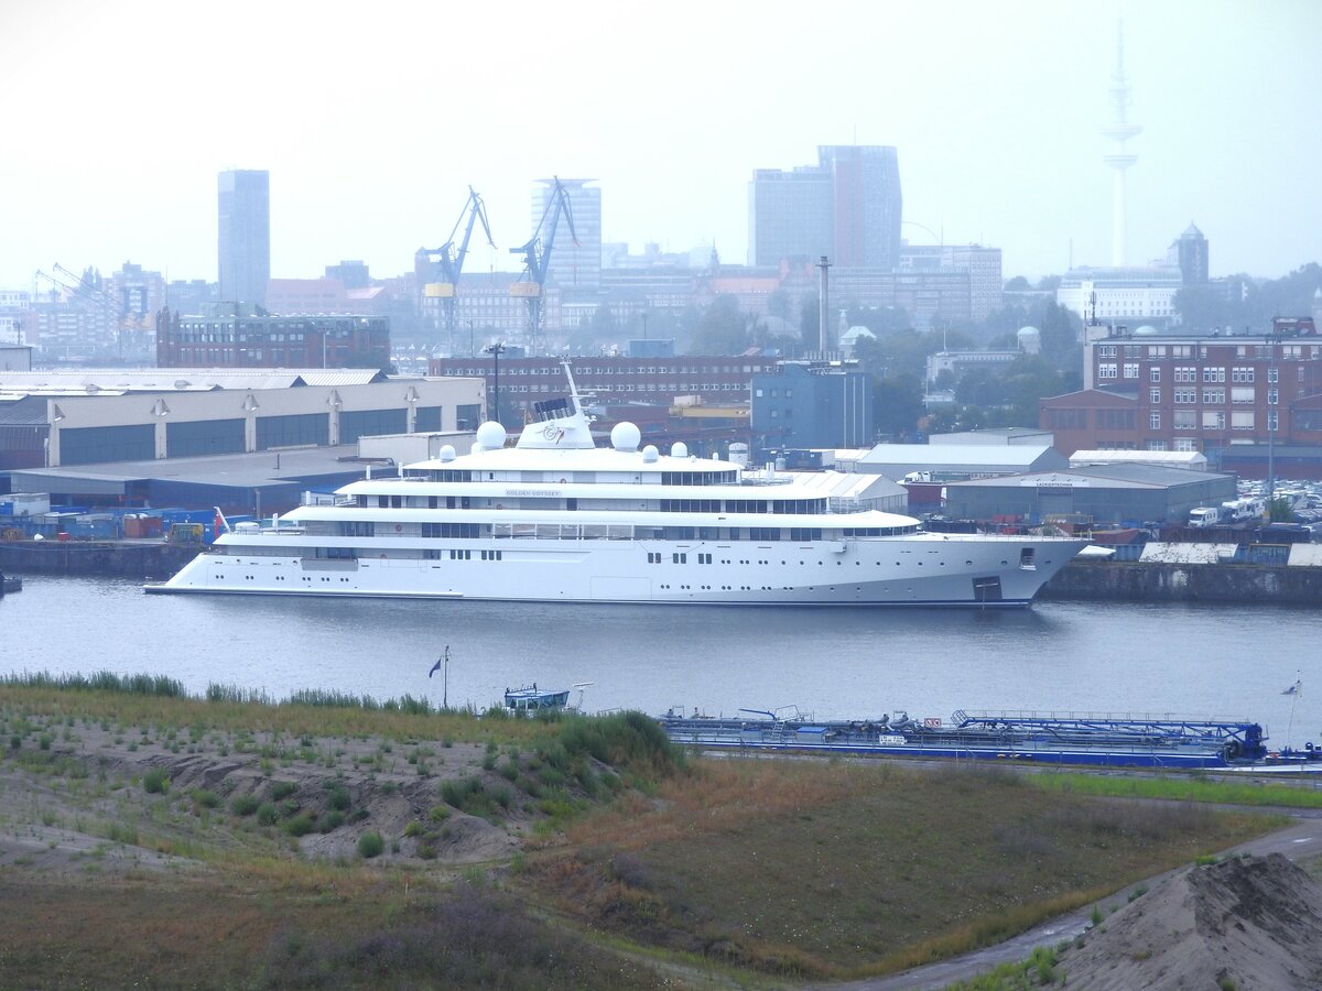
M 297 538 L 290 538 L 296 540 Z M 668 543 L 484 540 L 456 558 L 398 542 L 353 560 L 296 546 L 200 554 L 153 593 L 648 603 L 666 605 L 900 605 L 1021 608 L 1085 546 L 1060 538 L 916 534 L 903 538 Z M 260 552 L 246 552 L 256 551 Z

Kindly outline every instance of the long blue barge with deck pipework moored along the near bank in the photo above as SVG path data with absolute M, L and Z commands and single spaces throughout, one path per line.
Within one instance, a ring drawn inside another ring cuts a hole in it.
M 713 751 L 787 751 L 886 757 L 999 760 L 1113 768 L 1216 769 L 1272 762 L 1263 727 L 1249 720 L 1036 712 L 954 712 L 910 719 L 814 720 L 797 708 L 739 710 L 738 717 L 658 721 L 673 743 Z M 1311 761 L 1310 761 L 1311 762 Z M 1319 765 L 1314 765 L 1319 766 Z

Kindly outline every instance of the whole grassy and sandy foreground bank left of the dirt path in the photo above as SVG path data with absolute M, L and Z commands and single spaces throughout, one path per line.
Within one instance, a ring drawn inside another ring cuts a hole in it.
M 1087 776 L 686 761 L 637 714 L 175 687 L 0 683 L 0 986 L 862 976 L 1276 825 Z

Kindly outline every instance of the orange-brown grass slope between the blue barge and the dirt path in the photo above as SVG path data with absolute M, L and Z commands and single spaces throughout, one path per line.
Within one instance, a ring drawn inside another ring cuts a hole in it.
M 592 817 L 534 891 L 644 942 L 861 976 L 995 942 L 1263 831 L 992 770 L 726 761 Z

